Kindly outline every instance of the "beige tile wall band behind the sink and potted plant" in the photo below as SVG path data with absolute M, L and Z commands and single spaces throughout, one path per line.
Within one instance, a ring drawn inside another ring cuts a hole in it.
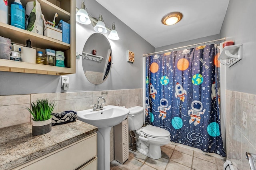
M 108 92 L 108 94 L 102 95 L 102 92 Z M 57 104 L 53 113 L 56 113 L 90 109 L 90 105 L 97 104 L 100 96 L 106 99 L 106 105 L 125 106 L 126 108 L 143 106 L 142 89 L 0 96 L 0 128 L 30 122 L 30 113 L 25 107 L 30 107 L 30 102 L 36 101 L 36 99 L 47 98 L 50 101 L 55 101 Z M 114 160 L 114 128 L 110 132 L 110 160 Z

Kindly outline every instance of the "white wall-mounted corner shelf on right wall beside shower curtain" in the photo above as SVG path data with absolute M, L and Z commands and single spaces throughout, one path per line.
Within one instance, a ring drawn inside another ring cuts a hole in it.
M 223 65 L 231 67 L 242 59 L 242 44 L 228 45 L 223 48 L 218 60 Z

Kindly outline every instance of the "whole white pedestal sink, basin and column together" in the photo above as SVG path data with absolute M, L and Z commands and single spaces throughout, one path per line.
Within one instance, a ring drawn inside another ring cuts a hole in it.
M 78 111 L 78 120 L 98 127 L 98 170 L 110 169 L 110 130 L 121 123 L 129 114 L 129 110 L 119 106 L 104 106 L 102 110 L 88 109 Z

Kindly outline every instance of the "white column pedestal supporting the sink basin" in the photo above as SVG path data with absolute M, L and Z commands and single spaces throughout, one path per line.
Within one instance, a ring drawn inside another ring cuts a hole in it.
M 98 170 L 110 170 L 110 130 L 112 127 L 98 128 L 97 156 Z

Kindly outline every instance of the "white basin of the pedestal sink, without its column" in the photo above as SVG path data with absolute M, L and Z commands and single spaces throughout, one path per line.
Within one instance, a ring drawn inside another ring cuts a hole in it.
M 92 111 L 92 109 L 78 111 L 78 120 L 98 128 L 113 127 L 121 123 L 129 114 L 129 110 L 119 106 L 104 106 L 102 110 Z

